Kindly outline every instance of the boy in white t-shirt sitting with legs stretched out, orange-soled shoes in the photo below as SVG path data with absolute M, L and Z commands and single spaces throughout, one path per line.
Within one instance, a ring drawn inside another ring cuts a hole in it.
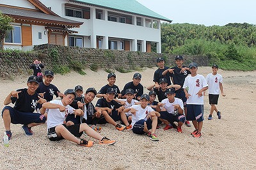
M 102 137 L 99 133 L 95 132 L 86 123 L 74 124 L 67 126 L 63 124 L 65 120 L 65 114 L 75 114 L 76 116 L 83 116 L 84 112 L 81 109 L 74 109 L 70 106 L 76 97 L 74 89 L 67 89 L 65 91 L 62 100 L 51 100 L 43 104 L 43 109 L 49 109 L 47 114 L 47 129 L 48 138 L 51 141 L 59 141 L 61 139 L 67 139 L 79 146 L 91 147 L 93 141 L 86 141 L 79 139 L 83 132 L 87 135 L 99 140 L 99 144 L 114 144 L 116 141 L 111 141 L 106 137 Z

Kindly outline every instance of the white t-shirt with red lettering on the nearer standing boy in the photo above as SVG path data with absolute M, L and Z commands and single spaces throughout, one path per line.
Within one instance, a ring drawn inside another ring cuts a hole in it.
M 185 78 L 185 82 L 183 85 L 184 89 L 188 90 L 189 98 L 186 102 L 186 104 L 198 104 L 203 105 L 204 104 L 204 95 L 202 97 L 198 97 L 196 93 L 202 88 L 207 87 L 208 84 L 206 82 L 206 79 L 203 75 L 197 74 L 195 76 L 188 75 L 188 77 Z

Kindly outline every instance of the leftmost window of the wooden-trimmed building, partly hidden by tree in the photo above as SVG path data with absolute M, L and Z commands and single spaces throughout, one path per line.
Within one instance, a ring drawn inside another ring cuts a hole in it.
M 4 42 L 21 43 L 21 27 L 13 26 L 13 29 L 5 36 Z

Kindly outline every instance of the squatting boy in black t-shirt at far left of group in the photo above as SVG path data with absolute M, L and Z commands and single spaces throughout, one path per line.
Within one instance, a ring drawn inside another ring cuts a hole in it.
M 2 111 L 2 117 L 4 121 L 4 127 L 9 140 L 12 137 L 10 130 L 10 124 L 22 124 L 22 130 L 26 135 L 33 135 L 31 127 L 45 123 L 44 114 L 33 113 L 35 109 L 38 109 L 38 104 L 46 102 L 44 98 L 38 96 L 36 89 L 38 88 L 38 77 L 30 76 L 27 82 L 27 88 L 17 89 L 17 91 L 11 91 L 5 98 Z M 14 107 L 7 106 L 8 104 L 15 104 Z

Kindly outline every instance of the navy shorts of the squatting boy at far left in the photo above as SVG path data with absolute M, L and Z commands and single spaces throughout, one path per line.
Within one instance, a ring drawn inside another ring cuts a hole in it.
M 11 123 L 13 124 L 22 124 L 28 125 L 29 123 L 45 123 L 44 114 L 36 113 L 36 112 L 20 112 L 13 109 L 13 107 L 5 106 L 2 111 L 2 117 L 4 110 L 8 110 L 11 116 Z

